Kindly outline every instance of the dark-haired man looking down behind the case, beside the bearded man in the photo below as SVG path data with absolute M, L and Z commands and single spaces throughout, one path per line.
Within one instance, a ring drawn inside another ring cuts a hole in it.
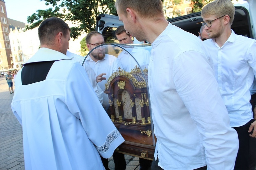
M 117 27 L 115 31 L 115 36 L 120 44 L 133 44 L 132 35 L 130 33 L 126 33 L 123 25 Z M 140 65 L 141 69 L 144 70 L 145 68 L 148 69 L 149 65 L 149 58 L 150 52 L 144 49 L 137 49 L 137 48 L 126 48 L 126 50 L 133 55 L 133 57 L 126 52 L 125 50 L 122 51 L 118 55 L 118 59 L 122 64 L 123 70 L 130 72 L 132 69 L 135 68 L 135 65 Z

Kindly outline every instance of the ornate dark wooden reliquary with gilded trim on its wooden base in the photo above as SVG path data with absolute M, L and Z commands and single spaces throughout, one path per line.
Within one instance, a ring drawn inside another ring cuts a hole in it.
M 147 92 L 148 71 L 135 66 L 131 72 L 113 73 L 105 84 L 110 107 L 108 115 L 125 142 L 117 152 L 153 160 L 155 141 Z

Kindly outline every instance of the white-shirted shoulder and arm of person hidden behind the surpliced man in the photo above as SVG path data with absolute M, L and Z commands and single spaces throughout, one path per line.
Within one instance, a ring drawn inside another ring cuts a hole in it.
M 74 53 L 71 53 L 70 51 L 67 50 L 67 54 L 66 54 L 68 57 L 70 57 L 72 60 L 75 60 L 77 62 L 79 62 L 81 65 L 83 64 L 83 61 L 84 61 L 84 57 L 80 56 L 80 55 L 77 55 L 77 54 L 74 54 Z M 103 91 L 101 90 L 101 88 L 99 87 L 97 81 L 96 81 L 96 74 L 95 72 L 92 70 L 92 68 L 88 65 L 88 62 L 84 62 L 84 68 L 85 68 L 85 71 L 89 77 L 89 80 L 92 84 L 92 88 L 93 90 L 95 91 L 99 101 L 100 101 L 100 104 L 103 103 Z

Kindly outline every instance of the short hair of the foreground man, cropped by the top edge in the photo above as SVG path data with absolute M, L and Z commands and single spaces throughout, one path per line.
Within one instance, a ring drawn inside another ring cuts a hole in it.
M 161 0 L 116 0 L 115 7 L 118 7 L 125 16 L 127 15 L 126 8 L 135 10 L 144 18 L 155 18 L 156 16 L 164 15 Z

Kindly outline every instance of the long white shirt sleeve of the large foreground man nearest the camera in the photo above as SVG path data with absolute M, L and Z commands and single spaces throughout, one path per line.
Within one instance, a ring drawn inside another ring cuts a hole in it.
M 199 52 L 186 51 L 174 61 L 173 70 L 176 90 L 203 137 L 208 169 L 234 169 L 238 136 L 230 127 L 208 59 Z

